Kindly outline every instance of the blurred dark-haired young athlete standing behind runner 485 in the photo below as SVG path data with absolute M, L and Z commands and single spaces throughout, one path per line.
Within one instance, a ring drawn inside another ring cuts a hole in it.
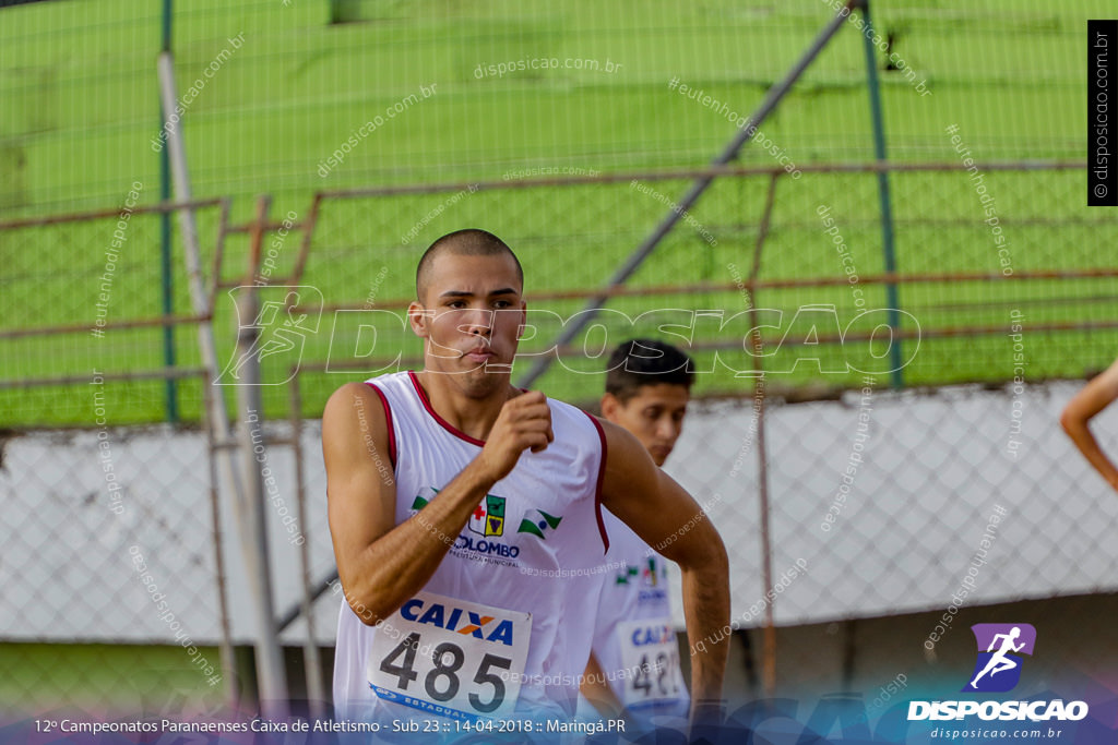
M 694 372 L 686 354 L 670 344 L 633 340 L 609 357 L 601 416 L 632 432 L 663 466 L 683 430 Z M 653 716 L 685 717 L 688 689 L 667 596 L 666 562 L 612 514 L 606 576 L 598 604 L 594 651 L 582 695 L 604 716 L 623 711 L 638 724 Z M 659 548 L 664 545 L 657 544 Z

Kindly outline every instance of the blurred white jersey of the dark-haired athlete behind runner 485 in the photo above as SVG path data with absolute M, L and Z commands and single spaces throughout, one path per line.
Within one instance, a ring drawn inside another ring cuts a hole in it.
M 609 687 L 638 718 L 685 717 L 690 697 L 667 594 L 667 560 L 625 523 L 603 512 L 609 534 L 594 655 Z

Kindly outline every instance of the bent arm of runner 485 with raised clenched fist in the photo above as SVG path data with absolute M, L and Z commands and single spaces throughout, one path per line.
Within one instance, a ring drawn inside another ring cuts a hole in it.
M 322 416 L 322 450 L 338 574 L 361 621 L 376 624 L 418 592 L 471 513 L 512 470 L 521 451 L 546 447 L 551 439 L 542 394 L 508 401 L 482 452 L 439 490 L 437 499 L 394 525 L 396 484 L 383 407 L 368 385 L 340 388 Z

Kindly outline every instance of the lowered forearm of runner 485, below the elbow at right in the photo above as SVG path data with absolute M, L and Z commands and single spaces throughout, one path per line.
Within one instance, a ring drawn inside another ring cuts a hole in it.
M 730 650 L 730 569 L 726 548 L 716 550 L 698 567 L 681 567 L 683 613 L 691 650 L 691 700 L 722 697 L 722 677 Z

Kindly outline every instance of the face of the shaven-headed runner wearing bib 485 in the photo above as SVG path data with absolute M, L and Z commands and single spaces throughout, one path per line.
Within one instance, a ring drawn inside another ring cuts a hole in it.
M 474 394 L 505 384 L 524 323 L 521 290 L 509 256 L 437 257 L 424 296 L 408 307 L 426 340 L 425 370 L 455 374 Z

